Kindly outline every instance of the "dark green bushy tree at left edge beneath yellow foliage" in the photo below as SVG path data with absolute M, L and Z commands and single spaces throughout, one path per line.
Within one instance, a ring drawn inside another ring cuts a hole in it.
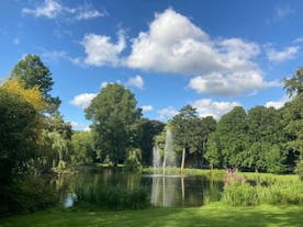
M 5 185 L 37 156 L 40 114 L 21 95 L 0 89 L 0 181 Z

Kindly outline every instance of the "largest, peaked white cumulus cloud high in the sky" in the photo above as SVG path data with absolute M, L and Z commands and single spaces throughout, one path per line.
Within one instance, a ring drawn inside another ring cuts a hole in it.
M 171 9 L 156 14 L 149 31 L 134 38 L 126 65 L 133 68 L 186 75 L 255 67 L 255 43 L 240 38 L 212 39 L 203 30 Z

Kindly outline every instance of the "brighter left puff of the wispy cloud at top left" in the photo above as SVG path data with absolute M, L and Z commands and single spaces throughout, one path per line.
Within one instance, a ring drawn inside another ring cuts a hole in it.
M 22 9 L 22 13 L 33 14 L 35 18 L 45 16 L 48 19 L 56 18 L 61 11 L 63 5 L 55 0 L 45 0 L 43 4 L 35 9 Z

